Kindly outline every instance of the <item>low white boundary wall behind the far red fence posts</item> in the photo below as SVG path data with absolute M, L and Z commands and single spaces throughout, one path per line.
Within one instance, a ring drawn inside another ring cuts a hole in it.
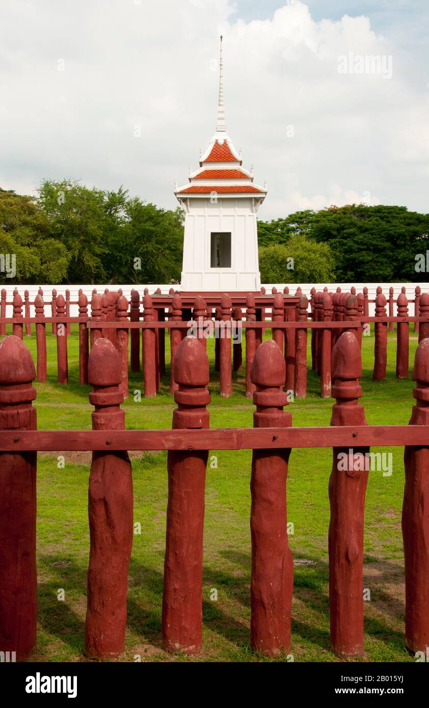
M 263 284 L 265 287 L 265 290 L 267 293 L 271 292 L 271 288 L 273 285 L 277 287 L 279 292 L 283 292 L 283 288 L 285 287 L 285 283 L 264 283 Z M 401 292 L 401 287 L 405 285 L 406 287 L 406 297 L 408 297 L 408 301 L 414 301 L 415 297 L 415 290 L 416 290 L 416 285 L 420 285 L 421 287 L 421 292 L 429 292 L 429 283 L 428 282 L 370 282 L 370 283 L 348 283 L 348 282 L 323 282 L 323 283 L 315 283 L 314 285 L 311 283 L 303 283 L 301 285 L 302 292 L 304 295 L 307 295 L 308 298 L 310 298 L 310 290 L 312 287 L 315 287 L 316 290 L 324 290 L 324 287 L 328 288 L 328 292 L 336 292 L 336 289 L 338 285 L 341 287 L 342 292 L 350 292 L 350 287 L 352 285 L 355 286 L 356 292 L 362 292 L 363 288 L 366 287 L 368 288 L 368 297 L 370 300 L 375 299 L 376 291 L 378 285 L 381 285 L 382 287 L 382 292 L 385 295 L 387 301 L 389 301 L 389 287 L 393 287 L 394 289 L 394 299 L 396 299 Z M 289 285 L 290 293 L 291 295 L 294 295 L 294 293 L 297 290 L 297 287 L 299 284 L 293 284 Z M 30 302 L 34 302 L 35 296 L 38 294 L 39 287 L 42 287 L 43 290 L 43 297 L 46 302 L 50 302 L 51 297 L 52 297 L 52 290 L 55 288 L 57 290 L 57 294 L 61 293 L 62 295 L 65 296 L 66 290 L 70 291 L 70 299 L 71 301 L 77 301 L 79 299 L 78 292 L 79 288 L 81 287 L 82 290 L 84 291 L 86 297 L 88 297 L 88 312 L 91 312 L 89 304 L 91 303 L 91 295 L 94 287 L 96 288 L 97 292 L 103 294 L 104 290 L 106 287 L 108 287 L 109 290 L 117 290 L 119 287 L 122 287 L 122 292 L 127 297 L 130 299 L 131 297 L 131 290 L 132 288 L 135 288 L 136 290 L 139 291 L 140 297 L 143 297 L 143 291 L 144 288 L 147 287 L 149 288 L 149 293 L 153 293 L 158 287 L 161 288 L 161 292 L 163 295 L 168 295 L 168 290 L 170 290 L 171 287 L 173 287 L 175 290 L 180 289 L 180 285 L 165 285 L 162 283 L 155 283 L 155 284 L 150 284 L 150 285 L 2 285 L 2 288 L 6 290 L 6 300 L 7 302 L 11 302 L 13 299 L 13 290 L 15 287 L 18 287 L 18 292 L 21 295 L 22 299 L 24 299 L 24 290 L 28 290 L 28 295 L 30 297 Z M 70 315 L 71 317 L 77 317 L 79 312 L 78 312 L 78 306 L 77 305 L 71 305 L 70 307 Z M 414 314 L 414 306 L 413 302 L 410 302 L 408 306 L 408 312 L 410 315 Z M 30 307 L 30 316 L 34 317 L 34 309 L 33 307 Z M 370 303 L 370 316 L 373 316 L 374 314 L 374 304 Z M 396 315 L 396 307 L 395 307 L 395 315 Z M 12 316 L 12 307 L 11 305 L 8 305 L 6 307 L 6 317 L 11 317 Z M 50 312 L 50 305 L 45 305 L 45 316 L 51 316 Z

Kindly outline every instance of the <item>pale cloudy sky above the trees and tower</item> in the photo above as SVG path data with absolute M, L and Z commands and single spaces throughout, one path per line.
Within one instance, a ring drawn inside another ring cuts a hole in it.
M 428 0 L 2 0 L 0 187 L 120 185 L 166 209 L 216 125 L 258 217 L 429 212 Z

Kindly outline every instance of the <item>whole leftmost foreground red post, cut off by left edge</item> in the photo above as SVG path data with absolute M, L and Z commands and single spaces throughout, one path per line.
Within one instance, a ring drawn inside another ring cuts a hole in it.
M 36 430 L 33 359 L 21 338 L 0 343 L 0 430 Z M 18 447 L 18 445 L 17 445 Z M 0 649 L 25 661 L 36 641 L 37 452 L 0 452 Z

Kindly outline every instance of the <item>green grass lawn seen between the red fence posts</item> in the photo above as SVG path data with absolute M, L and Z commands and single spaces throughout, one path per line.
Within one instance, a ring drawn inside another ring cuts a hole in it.
M 91 428 L 90 387 L 79 385 L 77 327 L 69 337 L 69 380 L 57 384 L 55 338 L 47 329 L 47 382 L 35 384 L 38 428 Z M 265 333 L 269 336 L 270 332 Z M 35 338 L 24 337 L 35 355 Z M 410 366 L 416 350 L 410 343 Z M 169 341 L 166 341 L 168 351 Z M 234 374 L 234 394 L 219 396 L 219 374 L 210 354 L 210 426 L 251 427 L 253 404 L 244 396 L 244 370 Z M 370 425 L 406 424 L 413 406 L 411 375 L 395 378 L 396 335 L 389 335 L 388 372 L 384 382 L 372 382 L 374 337 L 362 345 L 362 403 Z M 167 353 L 168 358 L 168 353 Z M 309 355 L 309 361 L 310 361 Z M 169 365 L 167 365 L 169 376 Z M 130 397 L 124 404 L 127 428 L 171 428 L 173 399 L 168 376 L 156 399 L 134 401 L 142 375 L 130 375 Z M 305 400 L 289 406 L 294 426 L 328 426 L 333 399 L 321 400 L 319 379 L 309 371 Z M 403 644 L 404 554 L 401 506 L 404 490 L 402 447 L 379 449 L 393 453 L 393 474 L 370 472 L 365 510 L 364 587 L 367 661 L 413 661 Z M 64 452 L 58 469 L 56 455 L 38 457 L 38 644 L 30 661 L 84 661 L 86 568 L 89 534 L 87 515 L 89 453 Z M 132 459 L 135 522 L 128 591 L 128 624 L 123 661 L 268 661 L 251 652 L 250 624 L 250 506 L 251 451 L 210 452 L 217 468 L 207 468 L 203 651 L 200 656 L 170 656 L 161 649 L 161 598 L 167 504 L 166 453 L 137 453 Z M 329 650 L 328 599 L 328 478 L 331 450 L 300 449 L 290 455 L 287 482 L 288 521 L 294 525 L 290 547 L 294 556 L 292 647 L 294 661 L 338 661 Z M 209 458 L 210 459 L 210 458 Z M 64 588 L 65 600 L 57 600 Z M 217 589 L 217 601 L 210 590 Z M 285 657 L 274 661 L 285 661 Z

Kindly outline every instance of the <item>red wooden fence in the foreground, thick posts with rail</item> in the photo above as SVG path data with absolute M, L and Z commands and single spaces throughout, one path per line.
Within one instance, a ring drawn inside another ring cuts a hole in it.
M 149 330 L 150 331 L 150 330 Z M 370 445 L 405 445 L 402 513 L 405 644 L 429 639 L 429 338 L 418 346 L 408 426 L 367 426 L 360 346 L 345 331 L 332 352 L 331 428 L 292 428 L 284 411 L 284 355 L 275 341 L 256 350 L 253 428 L 210 430 L 209 362 L 198 338 L 176 351 L 172 430 L 125 430 L 122 360 L 98 338 L 88 360 L 93 430 L 36 430 L 35 367 L 21 338 L 0 343 L 0 650 L 25 659 L 36 641 L 35 559 L 38 450 L 93 450 L 89 478 L 90 556 L 84 646 L 88 656 L 124 651 L 132 549 L 132 468 L 127 450 L 168 450 L 168 507 L 161 631 L 168 651 L 202 644 L 202 537 L 209 450 L 253 450 L 251 463 L 251 632 L 254 650 L 290 651 L 293 563 L 287 542 L 287 464 L 293 447 L 332 447 L 328 533 L 331 646 L 360 656 L 363 632 L 363 529 Z M 411 401 L 410 401 L 411 402 Z M 352 455 L 350 455 L 352 452 Z M 351 462 L 343 467 L 346 456 Z M 362 464 L 364 461 L 364 464 Z

